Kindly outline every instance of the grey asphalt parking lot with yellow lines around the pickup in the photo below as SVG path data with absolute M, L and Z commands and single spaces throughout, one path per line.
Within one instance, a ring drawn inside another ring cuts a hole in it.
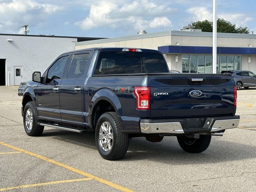
M 101 158 L 94 133 L 45 127 L 27 136 L 17 88 L 0 86 L 0 191 L 256 191 L 256 88 L 238 91 L 239 127 L 201 154 L 175 137 L 133 138 L 118 161 Z

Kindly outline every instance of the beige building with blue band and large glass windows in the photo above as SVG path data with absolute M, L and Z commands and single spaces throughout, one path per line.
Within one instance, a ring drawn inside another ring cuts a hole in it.
M 212 33 L 166 31 L 76 43 L 76 50 L 92 47 L 131 47 L 160 50 L 170 70 L 212 73 Z M 256 35 L 217 33 L 217 72 L 256 73 Z

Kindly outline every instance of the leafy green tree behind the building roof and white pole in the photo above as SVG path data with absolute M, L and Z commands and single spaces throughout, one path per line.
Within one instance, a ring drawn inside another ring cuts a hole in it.
M 208 20 L 192 22 L 195 29 L 202 29 L 202 32 L 212 32 L 212 22 Z M 236 27 L 229 21 L 218 18 L 217 19 L 217 32 L 220 33 L 245 33 L 248 34 L 248 27 Z

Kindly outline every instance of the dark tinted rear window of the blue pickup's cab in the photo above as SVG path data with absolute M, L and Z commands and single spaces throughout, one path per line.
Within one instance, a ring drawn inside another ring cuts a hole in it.
M 130 73 L 168 73 L 168 68 L 159 53 L 100 52 L 95 75 Z

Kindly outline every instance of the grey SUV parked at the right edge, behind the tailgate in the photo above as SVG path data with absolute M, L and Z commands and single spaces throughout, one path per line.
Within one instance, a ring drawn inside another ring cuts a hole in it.
M 237 90 L 248 89 L 249 87 L 256 87 L 256 75 L 251 71 L 232 70 L 222 71 L 221 74 L 231 74 L 236 82 Z

